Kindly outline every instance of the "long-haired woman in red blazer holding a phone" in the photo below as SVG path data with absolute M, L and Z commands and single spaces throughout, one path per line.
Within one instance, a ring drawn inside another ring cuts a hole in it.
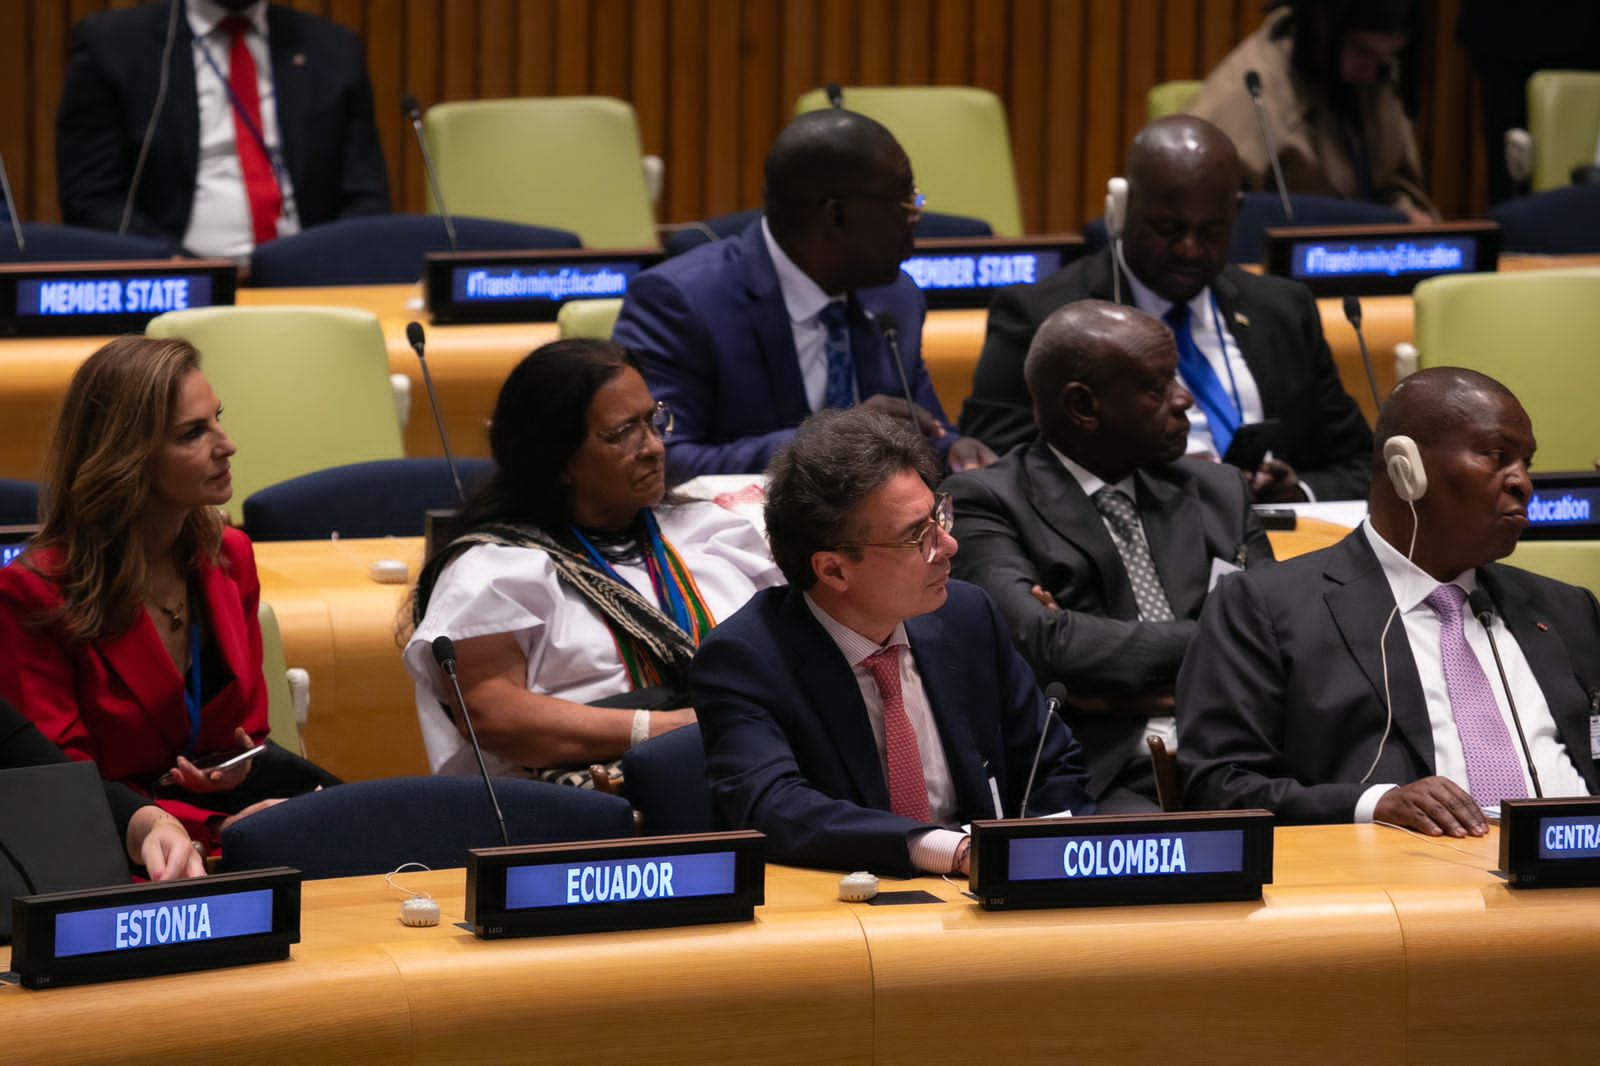
M 184 341 L 94 352 L 67 387 L 40 533 L 0 570 L 0 698 L 208 850 L 288 794 L 264 794 L 275 775 L 251 781 L 248 760 L 194 765 L 267 736 L 256 560 L 218 511 L 234 493 L 221 413 Z

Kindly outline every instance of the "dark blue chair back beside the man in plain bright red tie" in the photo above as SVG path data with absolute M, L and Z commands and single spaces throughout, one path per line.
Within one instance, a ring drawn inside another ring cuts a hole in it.
M 453 218 L 461 251 L 525 251 L 579 248 L 578 234 L 520 226 L 490 218 Z M 314 226 L 274 240 L 250 256 L 250 283 L 398 285 L 422 277 L 424 256 L 450 251 L 445 221 L 437 214 L 370 214 Z

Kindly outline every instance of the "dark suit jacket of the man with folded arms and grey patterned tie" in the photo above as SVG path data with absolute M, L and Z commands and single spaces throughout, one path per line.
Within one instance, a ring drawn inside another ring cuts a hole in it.
M 1094 503 L 1043 440 L 944 482 L 955 498 L 952 571 L 994 597 L 1034 674 L 1077 696 L 1171 688 L 1205 603 L 1211 560 L 1272 562 L 1266 530 L 1230 466 L 1179 459 L 1134 474 L 1134 506 L 1174 621 L 1139 621 L 1128 570 Z M 1059 610 L 1029 589 L 1038 584 Z M 1069 712 L 1090 792 L 1104 794 L 1144 720 Z

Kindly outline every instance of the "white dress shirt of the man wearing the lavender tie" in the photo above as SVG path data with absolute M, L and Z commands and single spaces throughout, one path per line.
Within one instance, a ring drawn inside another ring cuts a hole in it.
M 1373 552 L 1384 568 L 1389 591 L 1394 592 L 1395 605 L 1400 608 L 1397 621 L 1405 626 L 1405 637 L 1411 645 L 1411 658 L 1416 659 L 1416 672 L 1422 680 L 1422 699 L 1427 704 L 1427 719 L 1434 731 L 1434 773 L 1450 778 L 1466 789 L 1467 760 L 1461 751 L 1456 719 L 1450 711 L 1450 691 L 1445 685 L 1445 663 L 1440 653 L 1438 615 L 1424 602 L 1438 587 L 1438 581 L 1379 536 L 1378 530 L 1373 528 L 1371 519 L 1362 522 L 1362 533 L 1366 535 L 1366 543 L 1373 546 Z M 1478 578 L 1475 571 L 1467 570 L 1458 575 L 1451 584 L 1472 592 L 1478 587 Z M 1510 717 L 1510 706 L 1506 703 L 1499 671 L 1494 669 L 1494 655 L 1490 650 L 1488 637 L 1483 632 L 1483 626 L 1469 611 L 1462 611 L 1461 621 L 1467 645 L 1477 656 L 1478 664 L 1483 667 L 1483 675 L 1488 677 L 1490 688 L 1494 691 L 1494 704 L 1506 722 L 1506 736 L 1510 739 L 1512 754 L 1517 755 L 1517 762 L 1522 765 L 1523 784 L 1528 789 L 1528 795 L 1533 795 L 1533 779 L 1528 776 L 1528 763 L 1522 755 L 1522 744 L 1517 741 L 1517 723 Z M 1566 754 L 1566 746 L 1562 744 L 1560 733 L 1555 731 L 1555 719 L 1550 717 L 1550 704 L 1544 699 L 1539 679 L 1534 677 L 1533 667 L 1528 666 L 1528 659 L 1522 653 L 1522 647 L 1510 631 L 1506 629 L 1506 623 L 1498 611 L 1493 626 L 1494 642 L 1506 666 L 1506 679 L 1510 682 L 1512 691 L 1517 693 L 1517 711 L 1522 714 L 1522 723 L 1528 731 L 1528 749 L 1533 752 L 1534 765 L 1539 767 L 1539 784 L 1544 794 L 1589 795 L 1589 786 L 1584 784 L 1582 775 L 1578 773 L 1578 767 L 1573 765 L 1571 757 Z M 1376 640 L 1378 634 L 1373 634 L 1373 639 Z M 1405 693 L 1394 695 L 1402 699 L 1405 698 Z M 1374 784 L 1362 792 L 1362 799 L 1355 805 L 1355 821 L 1371 821 L 1378 800 L 1392 787 L 1397 786 Z

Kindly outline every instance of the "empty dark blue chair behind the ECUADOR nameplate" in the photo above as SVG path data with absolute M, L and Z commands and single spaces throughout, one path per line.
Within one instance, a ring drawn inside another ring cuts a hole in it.
M 494 795 L 512 844 L 634 836 L 618 795 L 501 778 Z M 293 866 L 307 877 L 386 874 L 402 863 L 464 866 L 469 848 L 499 847 L 478 778 L 384 778 L 309 792 L 222 832 L 224 871 Z

